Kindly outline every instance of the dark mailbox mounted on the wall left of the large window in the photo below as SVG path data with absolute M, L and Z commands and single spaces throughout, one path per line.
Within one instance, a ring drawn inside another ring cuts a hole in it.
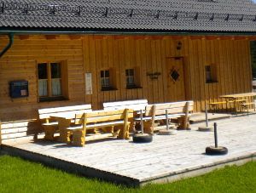
M 28 82 L 27 81 L 10 82 L 10 94 L 12 99 L 28 97 Z

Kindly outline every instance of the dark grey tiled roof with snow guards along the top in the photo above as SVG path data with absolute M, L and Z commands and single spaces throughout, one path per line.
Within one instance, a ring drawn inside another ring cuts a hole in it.
M 256 3 L 252 0 L 12 0 L 0 4 L 0 26 L 2 30 L 254 32 Z

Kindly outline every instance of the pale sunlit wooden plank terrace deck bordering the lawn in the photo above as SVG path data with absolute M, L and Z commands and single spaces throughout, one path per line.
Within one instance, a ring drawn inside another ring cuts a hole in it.
M 209 120 L 209 126 L 213 127 L 213 122 L 218 125 L 218 145 L 228 148 L 227 155 L 205 154 L 206 147 L 214 145 L 213 132 L 198 131 L 205 122 L 194 122 L 191 130 L 179 130 L 176 135 L 155 133 L 151 143 L 109 138 L 76 147 L 39 138 L 3 143 L 1 154 L 23 156 L 67 171 L 79 171 L 84 176 L 134 186 L 169 183 L 225 165 L 256 161 L 256 114 Z

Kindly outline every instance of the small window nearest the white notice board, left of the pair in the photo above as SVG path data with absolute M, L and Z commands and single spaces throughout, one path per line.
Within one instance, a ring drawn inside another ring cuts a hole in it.
M 113 68 L 104 69 L 101 71 L 101 87 L 102 91 L 105 90 L 117 90 L 114 88 L 114 73 Z

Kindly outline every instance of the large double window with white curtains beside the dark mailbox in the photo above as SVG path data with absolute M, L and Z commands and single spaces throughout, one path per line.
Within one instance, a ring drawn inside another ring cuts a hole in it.
M 38 63 L 39 101 L 64 99 L 67 93 L 63 91 L 65 84 L 63 71 L 65 67 L 61 62 Z

